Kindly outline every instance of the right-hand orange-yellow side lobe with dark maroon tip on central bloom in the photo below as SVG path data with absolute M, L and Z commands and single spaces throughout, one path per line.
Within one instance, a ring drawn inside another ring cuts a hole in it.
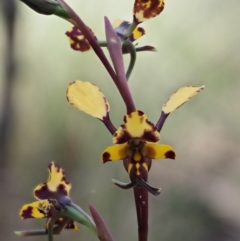
M 156 143 L 147 142 L 143 149 L 144 156 L 150 159 L 175 159 L 175 152 L 169 145 L 162 145 Z

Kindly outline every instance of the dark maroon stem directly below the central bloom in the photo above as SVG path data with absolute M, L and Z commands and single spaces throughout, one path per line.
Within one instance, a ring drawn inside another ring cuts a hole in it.
M 138 220 L 138 241 L 148 240 L 148 191 L 136 186 L 133 188 Z

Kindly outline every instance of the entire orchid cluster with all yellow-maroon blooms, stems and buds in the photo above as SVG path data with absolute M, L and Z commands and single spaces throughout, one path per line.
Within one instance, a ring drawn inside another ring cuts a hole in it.
M 110 104 L 100 89 L 87 81 L 76 80 L 67 88 L 67 100 L 78 110 L 99 119 L 112 134 L 113 145 L 106 147 L 101 155 L 103 163 L 123 160 L 130 182 L 113 180 L 122 189 L 134 188 L 137 209 L 139 240 L 147 240 L 148 230 L 148 192 L 160 194 L 160 188 L 148 184 L 148 173 L 152 160 L 175 159 L 171 145 L 160 144 L 160 131 L 167 117 L 174 110 L 189 101 L 204 89 L 204 86 L 184 86 L 174 92 L 163 104 L 158 121 L 154 124 L 147 115 L 136 108 L 128 79 L 134 68 L 136 53 L 155 51 L 150 45 L 138 47 L 135 41 L 145 34 L 139 24 L 158 16 L 164 9 L 163 0 L 135 0 L 132 22 L 116 20 L 113 24 L 105 17 L 106 40 L 99 40 L 94 32 L 82 21 L 64 0 L 21 0 L 38 13 L 57 15 L 73 27 L 66 32 L 73 50 L 87 52 L 93 50 L 113 79 L 126 106 L 123 124 L 116 128 L 110 119 Z M 105 56 L 102 47 L 107 47 L 112 65 Z M 127 71 L 123 63 L 123 54 L 130 54 Z M 113 67 L 112 67 L 113 66 Z M 37 201 L 25 204 L 20 210 L 22 219 L 47 218 L 44 231 L 23 231 L 20 235 L 58 234 L 63 228 L 78 230 L 76 222 L 86 225 L 99 240 L 112 241 L 102 219 L 96 210 L 90 207 L 95 223 L 69 197 L 71 184 L 67 181 L 63 169 L 53 162 L 48 166 L 49 179 L 34 189 Z M 142 199 L 141 199 L 142 198 Z M 140 200 L 141 199 L 141 200 Z M 144 204 L 143 204 L 144 203 Z

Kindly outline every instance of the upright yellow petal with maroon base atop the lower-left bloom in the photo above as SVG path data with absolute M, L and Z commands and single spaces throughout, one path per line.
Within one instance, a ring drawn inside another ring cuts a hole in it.
M 67 181 L 64 170 L 54 162 L 51 162 L 48 166 L 48 171 L 48 181 L 34 189 L 36 199 L 54 199 L 59 196 L 69 196 L 71 183 Z

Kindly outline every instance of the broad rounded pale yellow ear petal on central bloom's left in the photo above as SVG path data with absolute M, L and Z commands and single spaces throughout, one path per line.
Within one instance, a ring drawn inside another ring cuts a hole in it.
M 78 110 L 103 120 L 107 116 L 110 106 L 99 88 L 89 82 L 76 80 L 69 84 L 67 100 Z

